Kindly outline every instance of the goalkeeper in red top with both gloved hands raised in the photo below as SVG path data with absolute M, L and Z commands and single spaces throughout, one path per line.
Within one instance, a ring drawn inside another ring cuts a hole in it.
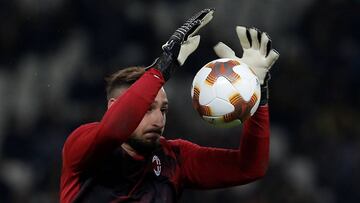
M 261 106 L 244 123 L 239 149 L 201 147 L 162 137 L 168 109 L 162 86 L 195 51 L 200 37 L 193 35 L 212 13 L 205 9 L 176 30 L 153 65 L 123 69 L 108 78 L 104 117 L 80 126 L 64 145 L 61 202 L 177 202 L 184 188 L 240 185 L 265 174 L 269 117 L 264 78 L 278 55 L 270 50 L 267 35 L 258 38 L 255 29 L 237 30 L 245 47 L 244 56 L 237 59 L 256 65 L 253 71 L 264 84 Z M 222 43 L 215 52 L 236 58 Z

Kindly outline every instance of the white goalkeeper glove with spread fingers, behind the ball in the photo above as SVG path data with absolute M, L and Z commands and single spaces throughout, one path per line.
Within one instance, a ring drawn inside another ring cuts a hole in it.
M 260 105 L 264 105 L 268 100 L 268 81 L 270 79 L 269 70 L 275 61 L 279 58 L 279 53 L 271 48 L 271 40 L 265 32 L 256 28 L 236 27 L 236 33 L 243 49 L 241 58 L 235 55 L 235 52 L 222 42 L 215 47 L 215 53 L 220 58 L 237 59 L 249 66 L 249 68 L 258 77 L 261 84 Z

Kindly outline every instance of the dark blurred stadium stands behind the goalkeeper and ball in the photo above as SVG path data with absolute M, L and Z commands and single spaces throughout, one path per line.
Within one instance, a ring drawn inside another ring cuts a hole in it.
M 58 202 L 61 148 L 105 109 L 104 77 L 148 65 L 194 12 L 215 7 L 199 50 L 166 84 L 165 135 L 237 147 L 241 128 L 214 129 L 191 106 L 191 80 L 236 25 L 270 33 L 271 163 L 255 183 L 185 191 L 181 202 L 358 202 L 359 0 L 14 0 L 0 3 L 0 202 Z M 226 174 L 224 174 L 226 175 Z

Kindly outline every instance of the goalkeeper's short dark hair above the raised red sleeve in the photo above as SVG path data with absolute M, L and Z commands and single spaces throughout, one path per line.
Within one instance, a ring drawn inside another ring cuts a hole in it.
M 106 81 L 106 97 L 107 100 L 115 98 L 116 89 L 122 87 L 130 87 L 137 79 L 145 73 L 145 67 L 134 66 L 120 69 L 105 78 Z

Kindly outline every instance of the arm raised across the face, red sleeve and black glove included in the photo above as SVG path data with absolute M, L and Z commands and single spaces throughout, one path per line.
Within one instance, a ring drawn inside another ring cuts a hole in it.
M 81 170 L 95 163 L 125 142 L 141 122 L 159 89 L 197 48 L 200 36 L 193 36 L 212 18 L 204 9 L 187 20 L 162 46 L 162 54 L 145 74 L 121 95 L 99 123 L 75 130 L 63 148 L 63 164 Z

